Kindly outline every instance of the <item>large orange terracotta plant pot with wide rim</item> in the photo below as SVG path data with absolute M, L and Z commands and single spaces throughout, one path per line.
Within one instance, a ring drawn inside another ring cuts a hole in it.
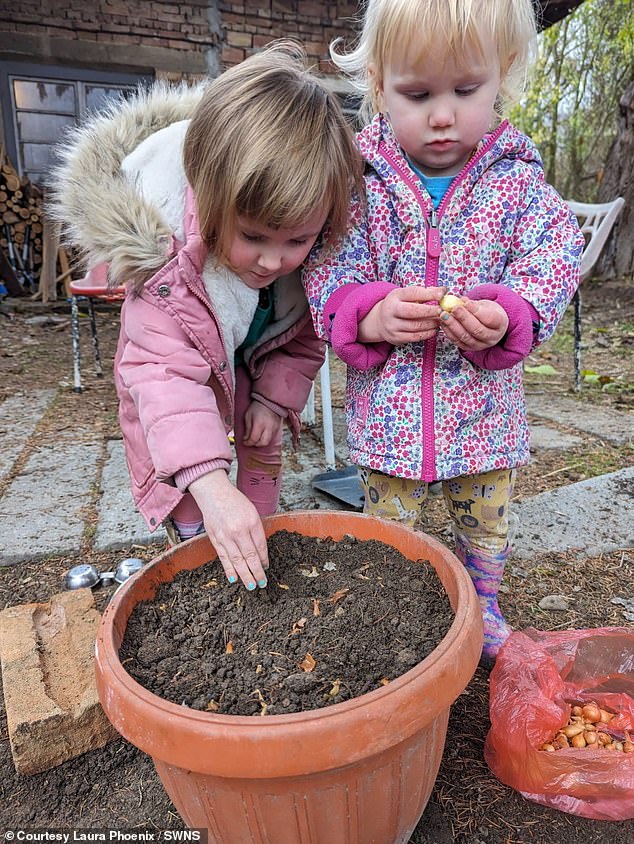
M 440 542 L 396 522 L 346 512 L 296 512 L 264 520 L 312 537 L 376 539 L 410 560 L 429 560 L 455 613 L 429 656 L 380 689 L 323 709 L 253 717 L 177 706 L 144 689 L 119 661 L 130 614 L 161 583 L 213 557 L 199 536 L 128 580 L 97 636 L 99 697 L 128 741 L 154 760 L 185 823 L 210 844 L 399 844 L 434 786 L 449 707 L 482 650 L 480 604 L 460 561 Z

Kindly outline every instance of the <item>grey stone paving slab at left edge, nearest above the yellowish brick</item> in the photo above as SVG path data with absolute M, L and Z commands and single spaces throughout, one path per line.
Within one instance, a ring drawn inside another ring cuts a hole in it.
M 97 443 L 61 437 L 33 452 L 0 498 L 0 565 L 79 553 L 100 455 Z

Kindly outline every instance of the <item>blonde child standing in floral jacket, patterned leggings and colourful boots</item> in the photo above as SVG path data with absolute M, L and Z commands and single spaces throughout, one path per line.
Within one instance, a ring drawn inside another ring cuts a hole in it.
M 497 594 L 529 458 L 522 361 L 555 330 L 583 248 L 532 142 L 502 119 L 534 38 L 531 0 L 369 0 L 356 48 L 331 51 L 372 109 L 366 204 L 305 275 L 318 333 L 348 364 L 365 510 L 413 524 L 442 481 L 487 658 L 509 634 Z

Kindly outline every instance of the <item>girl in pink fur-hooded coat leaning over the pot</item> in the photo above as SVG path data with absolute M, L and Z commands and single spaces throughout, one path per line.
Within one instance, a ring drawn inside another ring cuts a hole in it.
M 111 106 L 62 154 L 68 239 L 128 288 L 115 381 L 136 505 L 176 539 L 204 526 L 229 581 L 263 587 L 283 423 L 296 439 L 323 361 L 297 270 L 345 233 L 361 167 L 337 98 L 280 44 Z

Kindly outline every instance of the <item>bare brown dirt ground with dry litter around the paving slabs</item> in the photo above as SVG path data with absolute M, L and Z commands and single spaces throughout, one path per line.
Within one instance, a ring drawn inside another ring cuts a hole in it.
M 33 321 L 35 320 L 35 321 Z M 56 431 L 90 427 L 104 437 L 116 436 L 116 401 L 110 367 L 117 332 L 117 314 L 98 315 L 106 376 L 92 374 L 88 328 L 83 374 L 85 392 L 72 392 L 72 358 L 68 306 L 42 307 L 13 300 L 0 312 L 0 400 L 16 390 L 60 388 L 57 417 L 37 432 L 54 442 Z M 587 370 L 582 402 L 634 413 L 634 293 L 631 282 L 584 286 L 583 368 Z M 543 367 L 550 367 L 544 372 Z M 537 368 L 537 372 L 531 371 Z M 335 401 L 341 395 L 334 369 Z M 547 374 L 547 373 L 550 374 Z M 340 373 L 339 373 L 340 374 Z M 572 317 L 567 315 L 553 340 L 527 361 L 527 392 L 573 395 Z M 19 424 L 19 420 L 16 420 Z M 562 431 L 567 429 L 562 427 Z M 518 473 L 518 498 L 573 483 L 585 477 L 634 465 L 634 448 L 614 447 L 589 435 L 574 449 L 538 450 Z M 0 481 L 0 493 L 11 477 Z M 430 505 L 426 530 L 448 541 L 442 505 Z M 130 548 L 115 554 L 90 551 L 82 561 L 111 569 L 128 554 L 150 559 L 157 548 Z M 27 561 L 0 570 L 0 608 L 26 601 L 45 601 L 58 592 L 62 576 L 76 559 Z M 500 603 L 517 629 L 632 626 L 615 597 L 632 598 L 634 552 L 623 550 L 575 562 L 563 554 L 546 554 L 507 567 Z M 541 597 L 574 595 L 567 611 L 538 606 Z M 109 590 L 95 592 L 99 609 Z M 541 807 L 502 785 L 483 757 L 489 728 L 489 671 L 478 668 L 451 710 L 447 743 L 435 789 L 411 844 L 625 844 L 634 840 L 634 821 L 592 821 Z M 85 754 L 51 771 L 24 777 L 16 774 L 0 713 L 0 827 L 180 829 L 183 824 L 156 776 L 151 760 L 123 739 Z M 634 799 L 630 795 L 630 800 Z M 228 842 L 232 844 L 232 842 Z M 319 842 L 328 844 L 328 842 Z

